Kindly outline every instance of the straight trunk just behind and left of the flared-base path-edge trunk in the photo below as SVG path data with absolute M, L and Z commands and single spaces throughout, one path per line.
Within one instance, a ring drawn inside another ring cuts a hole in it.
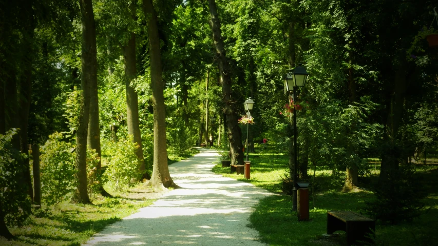
M 130 85 L 131 81 L 137 77 L 137 59 L 136 59 L 136 34 L 131 33 L 128 44 L 123 47 L 123 58 L 125 61 L 125 87 L 126 87 L 126 118 L 128 121 L 128 134 L 133 136 L 134 142 L 139 147 L 136 151 L 139 161 L 138 168 L 143 174 L 143 178 L 150 179 L 146 173 L 146 166 L 143 157 L 143 146 L 140 134 L 139 122 L 139 103 L 138 95 Z

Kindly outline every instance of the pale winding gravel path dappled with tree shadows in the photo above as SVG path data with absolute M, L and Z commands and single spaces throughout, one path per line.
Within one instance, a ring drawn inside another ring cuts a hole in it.
M 265 245 L 246 224 L 259 199 L 272 193 L 214 174 L 216 159 L 215 151 L 201 149 L 173 163 L 170 174 L 182 189 L 111 224 L 84 245 Z

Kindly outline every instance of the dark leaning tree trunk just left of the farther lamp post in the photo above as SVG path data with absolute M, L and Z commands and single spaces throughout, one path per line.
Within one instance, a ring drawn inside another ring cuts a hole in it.
M 232 98 L 231 86 L 233 81 L 231 79 L 231 69 L 228 66 L 224 44 L 222 41 L 222 34 L 220 30 L 220 20 L 217 13 L 215 0 L 208 0 L 210 7 L 211 27 L 213 32 L 213 40 L 216 48 L 216 57 L 220 71 L 222 83 L 222 100 L 225 105 L 226 125 L 228 133 L 228 141 L 231 149 L 231 162 L 233 165 L 243 165 L 243 145 L 241 139 L 241 130 L 238 125 L 238 115 L 236 100 Z

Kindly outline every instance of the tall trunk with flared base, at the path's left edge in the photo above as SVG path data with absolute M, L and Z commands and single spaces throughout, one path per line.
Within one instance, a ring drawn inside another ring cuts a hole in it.
M 170 177 L 167 166 L 163 69 L 161 67 L 157 13 L 155 12 L 152 0 L 143 0 L 143 12 L 148 23 L 150 79 L 154 107 L 154 169 L 151 177 L 151 186 L 154 188 L 178 187 Z

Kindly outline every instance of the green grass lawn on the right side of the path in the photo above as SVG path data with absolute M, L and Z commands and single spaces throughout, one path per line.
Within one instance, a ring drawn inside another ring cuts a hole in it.
M 281 192 L 281 177 L 287 172 L 286 155 L 250 154 L 251 179 L 231 174 L 230 168 L 220 164 L 213 171 L 227 177 L 250 182 L 276 195 L 266 197 L 257 204 L 250 216 L 250 227 L 259 231 L 260 241 L 269 245 L 345 245 L 345 234 L 329 239 L 322 236 L 327 229 L 327 211 L 351 210 L 361 212 L 366 202 L 374 198 L 373 187 L 378 179 L 378 159 L 370 159 L 371 175 L 360 178 L 360 188 L 341 192 L 341 181 L 333 180 L 327 167 L 318 167 L 316 172 L 315 204 L 310 197 L 310 220 L 298 221 L 296 212 L 291 212 L 291 196 Z M 374 168 L 377 171 L 373 171 Z M 313 170 L 309 170 L 309 175 Z M 412 222 L 397 225 L 376 222 L 376 245 L 436 245 L 438 233 L 438 167 L 418 165 L 417 175 L 429 191 L 423 214 Z

